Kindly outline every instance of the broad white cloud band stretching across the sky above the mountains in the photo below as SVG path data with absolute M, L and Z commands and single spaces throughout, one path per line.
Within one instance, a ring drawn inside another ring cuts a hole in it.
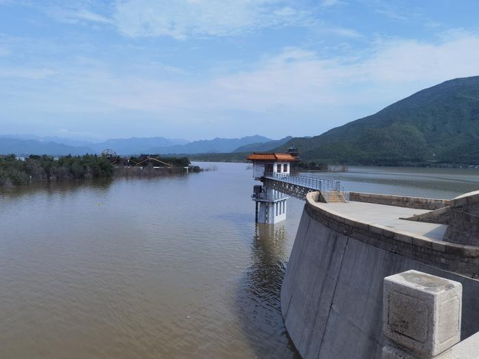
M 297 120 L 302 133 L 321 133 L 422 88 L 479 75 L 478 63 L 479 36 L 450 31 L 435 43 L 386 39 L 367 53 L 350 57 L 326 58 L 315 51 L 287 48 L 250 64 L 249 70 L 231 69 L 226 75 L 224 69 L 220 75 L 213 69 L 203 77 L 179 69 L 174 77 L 166 77 L 158 75 L 157 66 L 162 64 L 119 71 L 92 62 L 55 68 L 62 77 L 55 77 L 55 85 L 44 85 L 41 91 L 29 85 L 38 81 L 28 79 L 55 71 L 0 68 L 0 76 L 8 73 L 25 79 L 27 84 L 17 90 L 23 94 L 15 93 L 15 98 L 49 114 L 129 116 L 138 119 L 138 125 L 147 123 L 147 118 L 152 125 L 159 121 L 152 118 L 168 118 L 188 131 L 211 131 L 205 124 L 214 124 L 215 132 L 228 133 L 240 131 L 240 125 L 241 129 L 258 125 L 261 130 L 266 119 L 286 124 Z M 4 97 L 18 108 L 8 91 L 5 85 Z M 234 120 L 237 123 L 231 124 Z

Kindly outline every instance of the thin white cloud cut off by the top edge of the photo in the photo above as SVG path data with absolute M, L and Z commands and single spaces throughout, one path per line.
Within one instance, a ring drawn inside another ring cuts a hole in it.
M 118 0 L 114 20 L 127 36 L 243 34 L 264 27 L 311 23 L 311 14 L 286 0 Z

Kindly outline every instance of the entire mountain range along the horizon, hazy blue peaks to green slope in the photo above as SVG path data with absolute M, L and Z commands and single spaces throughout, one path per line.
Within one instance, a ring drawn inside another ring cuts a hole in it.
M 26 139 L 0 135 L 0 153 L 17 155 L 81 155 L 109 148 L 120 155 L 181 154 L 192 159 L 238 161 L 248 152 L 284 152 L 293 144 L 300 150 L 302 159 L 320 163 L 479 165 L 479 76 L 453 79 L 426 88 L 376 114 L 315 137 L 288 136 L 273 140 L 253 135 L 194 142 L 132 137 L 95 144 L 68 142 L 57 137 Z

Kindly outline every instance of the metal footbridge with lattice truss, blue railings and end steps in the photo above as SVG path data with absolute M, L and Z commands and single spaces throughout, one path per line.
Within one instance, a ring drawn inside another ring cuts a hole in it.
M 300 199 L 305 199 L 309 192 L 320 191 L 325 202 L 349 202 L 349 192 L 341 181 L 281 172 L 264 172 L 261 181 L 271 189 Z

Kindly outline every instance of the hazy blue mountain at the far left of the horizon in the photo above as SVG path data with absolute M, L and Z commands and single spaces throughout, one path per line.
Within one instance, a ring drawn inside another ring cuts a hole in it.
M 42 142 L 38 139 L 0 138 L 0 154 L 10 155 L 85 155 L 94 153 L 90 147 L 68 146 L 55 142 Z

